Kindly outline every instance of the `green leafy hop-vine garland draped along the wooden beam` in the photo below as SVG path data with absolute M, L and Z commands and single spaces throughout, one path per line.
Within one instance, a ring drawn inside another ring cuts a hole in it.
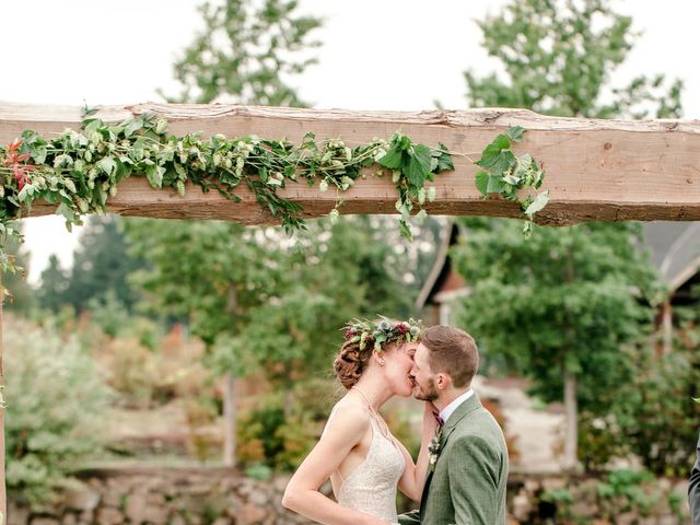
M 368 144 L 349 148 L 340 139 L 327 139 L 320 144 L 308 132 L 298 147 L 288 140 L 267 140 L 256 136 L 226 139 L 201 133 L 184 137 L 167 135 L 167 121 L 152 115 L 141 115 L 118 125 L 95 118 L 97 109 L 83 109 L 80 131 L 66 129 L 56 139 L 47 140 L 34 131 L 24 131 L 20 140 L 0 145 L 0 271 L 18 271 L 12 257 L 5 254 L 8 237 L 20 237 L 11 221 L 21 218 L 32 202 L 43 199 L 57 206 L 56 212 L 66 219 L 70 230 L 82 224 L 88 213 L 104 213 L 117 185 L 136 174 L 145 176 L 153 188 L 173 188 L 185 195 L 185 183 L 198 185 L 202 191 L 217 190 L 232 201 L 240 198 L 235 188 L 244 182 L 257 202 L 280 220 L 288 233 L 303 228 L 302 207 L 278 194 L 289 182 L 318 183 L 320 191 L 335 187 L 350 188 L 363 168 L 378 164 L 374 175 L 390 174 L 398 199 L 400 234 L 411 237 L 408 218 L 419 208 L 418 219 L 425 217 L 425 200 L 435 198 L 434 176 L 454 170 L 452 153 L 438 143 L 436 148 L 415 143 L 407 136 L 394 133 L 390 140 L 374 139 Z M 517 201 L 529 219 L 547 202 L 547 192 L 536 199 L 523 189 L 537 189 L 544 173 L 530 155 L 515 156 L 512 142 L 520 141 L 523 128 L 499 135 L 475 162 L 482 167 L 476 175 L 477 188 L 486 197 L 500 194 Z M 331 221 L 339 214 L 338 199 L 330 212 Z

